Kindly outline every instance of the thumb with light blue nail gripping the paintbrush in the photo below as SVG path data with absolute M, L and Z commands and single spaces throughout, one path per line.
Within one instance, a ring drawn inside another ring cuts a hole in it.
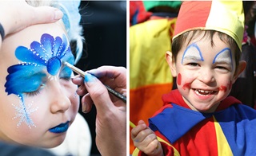
M 86 72 L 84 83 L 86 90 L 90 94 L 90 98 L 94 101 L 98 113 L 104 115 L 106 112 L 111 111 L 114 103 L 112 103 L 110 95 L 102 82 Z

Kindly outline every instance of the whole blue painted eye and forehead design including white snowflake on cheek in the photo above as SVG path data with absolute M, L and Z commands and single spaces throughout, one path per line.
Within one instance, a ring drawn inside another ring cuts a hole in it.
M 37 95 L 47 80 L 57 79 L 58 73 L 60 78 L 70 79 L 72 71 L 67 67 L 62 68 L 62 60 L 74 64 L 74 56 L 65 35 L 54 38 L 44 33 L 40 42 L 30 44 L 30 49 L 19 46 L 15 50 L 15 57 L 21 62 L 7 69 L 9 75 L 5 84 L 7 94 L 14 94 L 21 100 L 18 105 L 12 104 L 17 112 L 14 119 L 19 119 L 18 127 L 23 122 L 30 128 L 36 127 L 30 115 L 38 107 L 32 107 L 33 101 L 25 104 L 24 98 Z M 48 78 L 46 72 L 49 73 Z

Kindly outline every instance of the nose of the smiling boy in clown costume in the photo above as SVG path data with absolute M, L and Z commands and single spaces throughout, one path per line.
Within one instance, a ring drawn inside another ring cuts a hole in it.
M 212 72 L 210 68 L 201 68 L 198 73 L 198 80 L 204 84 L 210 84 L 215 80 L 214 72 Z

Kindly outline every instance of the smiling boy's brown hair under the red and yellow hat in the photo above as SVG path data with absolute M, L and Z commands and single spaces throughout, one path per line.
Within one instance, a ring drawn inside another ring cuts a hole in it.
M 218 46 L 218 45 L 214 45 L 214 41 L 213 41 L 214 34 L 217 33 L 219 39 L 224 43 L 230 45 L 231 50 L 234 50 L 235 67 L 238 66 L 240 56 L 241 56 L 241 51 L 238 45 L 236 44 L 236 41 L 234 41 L 232 37 L 226 35 L 226 33 L 221 33 L 215 30 L 196 29 L 196 30 L 187 31 L 186 33 L 182 33 L 178 37 L 174 38 L 174 41 L 172 42 L 172 47 L 171 47 L 174 61 L 177 60 L 177 55 L 178 55 L 178 52 L 182 49 L 182 45 L 184 45 L 184 43 L 187 43 L 187 45 L 189 45 L 190 41 L 193 38 L 198 37 L 202 33 L 204 33 L 202 38 L 205 38 L 205 37 L 210 38 L 211 46 Z M 202 38 L 200 40 L 202 40 Z

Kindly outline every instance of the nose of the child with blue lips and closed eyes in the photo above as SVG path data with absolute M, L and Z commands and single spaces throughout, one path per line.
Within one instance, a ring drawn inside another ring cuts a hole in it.
M 50 111 L 52 113 L 65 112 L 69 109 L 71 105 L 70 99 L 66 96 L 65 89 L 59 83 L 52 85 L 50 94 Z

